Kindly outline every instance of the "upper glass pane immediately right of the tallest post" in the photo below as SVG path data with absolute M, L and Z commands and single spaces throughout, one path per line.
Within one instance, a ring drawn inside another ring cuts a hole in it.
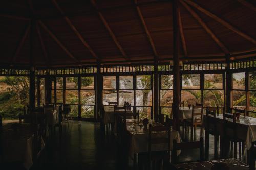
M 182 75 L 182 89 L 200 89 L 200 75 Z

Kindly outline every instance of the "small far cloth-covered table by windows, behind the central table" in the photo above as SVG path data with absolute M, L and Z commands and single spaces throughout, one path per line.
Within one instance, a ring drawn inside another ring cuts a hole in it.
M 103 123 L 105 125 L 108 123 L 115 123 L 114 105 L 104 106 L 104 111 L 105 111 L 105 115 L 103 118 Z M 116 113 L 123 113 L 123 112 L 124 112 L 124 109 L 116 109 Z M 126 110 L 126 113 L 132 113 L 132 110 Z

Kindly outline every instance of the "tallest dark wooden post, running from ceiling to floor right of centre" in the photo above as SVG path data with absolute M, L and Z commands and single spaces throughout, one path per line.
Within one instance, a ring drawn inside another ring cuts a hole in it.
M 178 0 L 173 0 L 173 39 L 174 39 L 174 92 L 173 92 L 173 127 L 179 130 L 179 102 L 180 102 L 180 68 L 179 68 L 179 53 L 180 53 L 180 35 L 179 35 L 179 7 Z

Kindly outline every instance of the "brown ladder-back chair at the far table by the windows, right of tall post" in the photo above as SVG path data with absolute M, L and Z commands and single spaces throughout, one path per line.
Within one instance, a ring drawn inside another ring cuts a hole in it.
M 195 109 L 201 109 L 201 111 L 195 112 Z M 199 116 L 199 117 L 196 117 L 196 116 Z M 193 138 L 193 133 L 197 130 L 197 126 L 201 126 L 200 134 L 202 135 L 202 120 L 203 120 L 203 106 L 201 104 L 200 104 L 200 106 L 192 105 L 191 118 L 184 120 L 185 126 L 187 128 L 191 127 L 191 138 Z

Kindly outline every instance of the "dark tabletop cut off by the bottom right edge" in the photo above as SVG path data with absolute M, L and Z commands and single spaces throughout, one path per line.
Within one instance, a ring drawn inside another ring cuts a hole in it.
M 234 158 L 203 161 L 203 162 L 181 163 L 181 164 L 176 164 L 175 167 L 177 169 L 187 169 L 187 170 L 215 170 L 215 169 L 216 170 L 219 170 L 219 169 L 249 170 L 249 166 L 247 164 Z

